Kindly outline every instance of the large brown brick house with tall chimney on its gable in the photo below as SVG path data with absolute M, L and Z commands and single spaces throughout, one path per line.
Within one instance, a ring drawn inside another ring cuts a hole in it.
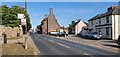
M 57 19 L 53 14 L 52 8 L 50 8 L 50 14 L 48 16 L 45 16 L 45 18 L 42 20 L 40 27 L 42 34 L 60 30 L 60 25 L 58 24 Z

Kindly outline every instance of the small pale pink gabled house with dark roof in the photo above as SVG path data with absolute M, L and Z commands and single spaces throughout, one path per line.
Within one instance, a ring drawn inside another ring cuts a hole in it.
M 76 23 L 75 23 L 75 34 L 82 34 L 82 28 L 83 27 L 87 27 L 87 23 L 83 22 L 82 20 L 78 20 Z

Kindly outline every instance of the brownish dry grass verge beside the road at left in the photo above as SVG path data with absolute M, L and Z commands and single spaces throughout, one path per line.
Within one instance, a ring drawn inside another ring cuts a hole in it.
M 34 48 L 28 44 L 28 49 L 24 48 L 25 43 L 3 44 L 2 55 L 34 55 Z

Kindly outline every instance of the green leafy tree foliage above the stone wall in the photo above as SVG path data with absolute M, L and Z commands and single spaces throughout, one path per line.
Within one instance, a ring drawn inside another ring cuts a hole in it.
M 24 14 L 27 19 L 27 29 L 29 30 L 31 28 L 29 15 L 24 8 L 20 6 L 12 6 L 9 8 L 6 5 L 3 5 L 0 8 L 2 8 L 2 25 L 17 27 L 20 24 L 17 14 Z

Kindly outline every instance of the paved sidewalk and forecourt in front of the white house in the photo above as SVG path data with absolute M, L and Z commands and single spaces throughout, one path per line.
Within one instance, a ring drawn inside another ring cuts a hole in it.
M 67 37 L 56 37 L 56 38 L 75 42 L 75 43 L 80 43 L 84 45 L 94 46 L 97 48 L 109 50 L 116 53 L 120 52 L 120 46 L 118 46 L 117 43 L 113 40 L 106 40 L 106 39 L 90 40 L 90 39 L 80 38 L 75 35 L 69 35 Z

